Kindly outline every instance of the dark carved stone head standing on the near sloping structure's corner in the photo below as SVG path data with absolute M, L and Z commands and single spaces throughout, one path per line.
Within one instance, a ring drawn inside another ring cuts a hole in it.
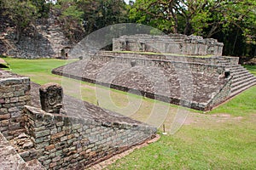
M 47 83 L 39 88 L 39 92 L 42 110 L 49 113 L 60 113 L 63 96 L 61 86 L 56 83 Z

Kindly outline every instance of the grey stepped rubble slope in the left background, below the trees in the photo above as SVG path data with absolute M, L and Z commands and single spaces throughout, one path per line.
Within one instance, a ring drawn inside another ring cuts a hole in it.
M 0 17 L 1 19 L 1 17 Z M 15 28 L 0 27 L 0 54 L 23 59 L 61 58 L 61 49 L 72 43 L 65 37 L 54 15 L 48 20 L 39 21 L 32 31 L 27 31 L 19 43 L 15 40 Z M 64 52 L 64 58 L 69 49 Z

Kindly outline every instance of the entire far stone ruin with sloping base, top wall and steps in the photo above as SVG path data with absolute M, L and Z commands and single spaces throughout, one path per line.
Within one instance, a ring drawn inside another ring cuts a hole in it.
M 256 83 L 238 57 L 221 56 L 222 48 L 194 36 L 124 36 L 113 39 L 113 51 L 74 55 L 82 57 L 52 73 L 209 111 Z

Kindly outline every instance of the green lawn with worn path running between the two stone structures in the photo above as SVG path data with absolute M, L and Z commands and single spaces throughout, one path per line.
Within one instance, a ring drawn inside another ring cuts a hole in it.
M 64 65 L 66 63 L 64 60 L 10 58 L 6 60 L 11 65 L 12 71 L 31 77 L 34 82 L 40 84 L 63 82 L 62 77 L 54 76 L 50 71 L 59 65 Z M 247 66 L 247 69 L 256 74 L 256 66 Z M 86 82 L 78 83 L 82 99 L 96 104 L 98 100 L 96 97 L 102 98 L 99 101 L 102 107 L 144 122 L 147 121 L 148 114 L 162 113 L 166 116 L 166 128 L 172 127 L 175 114 L 178 110 L 182 110 L 177 106 L 153 99 L 144 99 Z M 72 88 L 68 93 L 73 94 Z M 133 108 L 132 105 L 136 106 Z M 177 133 L 161 135 L 159 141 L 135 150 L 129 156 L 113 163 L 108 169 L 255 169 L 255 167 L 256 87 L 254 86 L 206 114 L 189 110 L 186 122 Z

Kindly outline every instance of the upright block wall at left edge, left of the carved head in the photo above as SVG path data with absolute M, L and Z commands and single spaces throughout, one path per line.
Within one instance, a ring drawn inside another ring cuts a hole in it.
M 22 111 L 30 104 L 30 80 L 0 70 L 0 131 L 12 139 L 24 131 Z

